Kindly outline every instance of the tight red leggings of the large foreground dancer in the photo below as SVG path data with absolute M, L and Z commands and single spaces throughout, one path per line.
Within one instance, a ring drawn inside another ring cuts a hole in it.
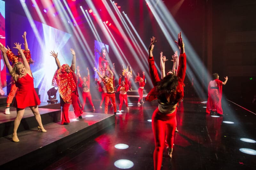
M 163 159 L 165 141 L 169 148 L 173 147 L 175 128 L 177 126 L 176 111 L 165 115 L 158 108 L 152 115 L 152 129 L 155 137 L 154 168 L 160 170 Z

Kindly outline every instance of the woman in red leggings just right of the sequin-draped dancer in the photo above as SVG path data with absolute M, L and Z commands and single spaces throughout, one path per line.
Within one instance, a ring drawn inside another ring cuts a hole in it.
M 86 98 L 88 98 L 88 100 L 90 102 L 90 105 L 92 106 L 92 110 L 95 110 L 94 105 L 92 103 L 92 96 L 91 96 L 91 93 L 90 93 L 90 71 L 87 67 L 88 74 L 87 74 L 87 76 L 84 76 L 83 79 L 82 79 L 81 75 L 80 75 L 80 69 L 79 69 L 78 66 L 77 66 L 76 70 L 77 70 L 78 78 L 79 78 L 79 81 L 80 81 L 78 86 L 83 89 L 82 95 L 83 95 L 84 102 L 83 102 L 83 105 L 82 105 L 82 110 L 84 111 Z

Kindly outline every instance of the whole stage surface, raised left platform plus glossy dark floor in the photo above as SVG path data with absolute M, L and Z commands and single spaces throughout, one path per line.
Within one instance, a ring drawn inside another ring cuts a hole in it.
M 173 158 L 167 156 L 165 149 L 162 169 L 255 169 L 255 155 L 239 149 L 256 150 L 255 143 L 240 140 L 256 139 L 256 115 L 223 99 L 227 102 L 223 107 L 224 116 L 212 117 L 205 113 L 204 101 L 184 98 L 180 102 L 177 112 L 179 132 L 174 137 Z M 19 143 L 12 142 L 11 135 L 0 138 L 1 169 L 112 170 L 119 169 L 114 165 L 119 159 L 132 161 L 130 169 L 154 169 L 154 136 L 148 120 L 151 120 L 157 103 L 145 102 L 138 106 L 134 101 L 129 104 L 132 105 L 130 110 L 123 106 L 122 114 L 114 116 L 111 106 L 108 108 L 110 114 L 102 114 L 104 107 L 100 109 L 99 102 L 93 100 L 95 112 L 86 108 L 88 112 L 83 114 L 82 120 L 74 118 L 70 111 L 71 122 L 67 126 L 57 121 L 44 125 L 46 133 L 36 128 L 21 131 L 18 133 Z M 116 149 L 116 144 L 129 147 Z

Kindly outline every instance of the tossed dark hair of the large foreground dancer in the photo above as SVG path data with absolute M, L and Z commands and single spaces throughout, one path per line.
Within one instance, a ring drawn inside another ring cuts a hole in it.
M 168 74 L 160 82 L 158 82 L 156 91 L 158 92 L 158 100 L 163 103 L 167 102 L 166 96 L 171 95 L 170 101 L 175 100 L 176 88 L 178 85 L 178 77 L 174 74 Z

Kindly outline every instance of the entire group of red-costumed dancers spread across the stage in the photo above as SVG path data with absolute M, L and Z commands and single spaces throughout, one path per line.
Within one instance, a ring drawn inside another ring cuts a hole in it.
M 36 94 L 33 84 L 33 76 L 30 70 L 29 63 L 31 60 L 30 51 L 28 49 L 27 41 L 26 41 L 26 32 L 22 35 L 25 42 L 25 50 L 21 49 L 20 43 L 14 43 L 15 47 L 18 49 L 18 55 L 14 55 L 11 49 L 5 48 L 2 44 L 0 44 L 0 49 L 4 56 L 4 63 L 8 68 L 13 83 L 13 92 L 11 96 L 7 99 L 7 107 L 6 114 L 9 111 L 11 99 L 16 93 L 16 100 L 14 106 L 17 109 L 17 117 L 14 121 L 14 128 L 12 134 L 12 140 L 14 142 L 19 142 L 19 138 L 17 136 L 17 129 L 19 127 L 20 121 L 24 115 L 25 107 L 30 107 L 33 114 L 35 115 L 36 121 L 38 122 L 38 129 L 42 132 L 46 132 L 43 127 L 41 116 L 38 111 L 38 105 L 40 104 L 40 100 Z M 167 145 L 168 155 L 172 157 L 173 151 L 173 140 L 174 140 L 174 132 L 177 126 L 176 121 L 176 112 L 178 103 L 184 97 L 184 79 L 186 74 L 186 53 L 185 53 L 185 44 L 182 40 L 181 32 L 178 34 L 178 40 L 175 41 L 178 48 L 180 49 L 180 55 L 178 57 L 177 51 L 174 55 L 172 55 L 173 68 L 172 70 L 168 70 L 165 74 L 165 62 L 167 61 L 166 57 L 163 56 L 163 53 L 160 53 L 160 66 L 161 66 L 161 79 L 158 76 L 157 69 L 155 66 L 155 61 L 153 57 L 153 50 L 156 44 L 156 38 L 152 37 L 150 41 L 150 45 L 148 48 L 148 65 L 149 65 L 149 75 L 151 81 L 153 83 L 154 88 L 150 90 L 148 93 L 146 100 L 158 101 L 158 107 L 154 111 L 152 115 L 152 129 L 155 138 L 155 151 L 154 151 L 154 168 L 159 170 L 161 169 L 162 159 L 163 159 L 163 151 L 164 146 Z M 95 107 L 92 103 L 91 93 L 90 93 L 90 73 L 87 68 L 88 74 L 83 78 L 80 75 L 80 68 L 76 67 L 76 53 L 74 49 L 70 49 L 72 54 L 72 63 L 71 66 L 68 64 L 60 65 L 60 61 L 58 59 L 58 53 L 51 51 L 50 54 L 54 57 L 55 63 L 57 65 L 57 70 L 54 74 L 53 85 L 58 86 L 60 92 L 60 104 L 62 106 L 62 118 L 61 124 L 68 125 L 68 109 L 70 104 L 73 105 L 74 113 L 79 118 L 82 119 L 82 114 L 85 106 L 86 98 L 89 99 L 89 102 L 92 106 L 92 109 L 95 110 Z M 10 62 L 12 65 L 10 64 Z M 104 63 L 105 60 L 102 59 Z M 106 62 L 105 62 L 106 63 Z M 114 114 L 116 114 L 116 97 L 114 90 L 114 79 L 113 79 L 113 71 L 109 68 L 109 65 L 106 64 L 106 70 L 109 75 L 102 75 L 100 71 L 94 67 L 94 71 L 97 72 L 101 81 L 99 83 L 99 91 L 104 94 L 102 96 L 105 98 L 105 113 L 108 113 L 108 103 L 111 99 Z M 177 69 L 177 70 L 176 70 Z M 130 68 L 131 70 L 131 68 Z M 76 74 L 75 74 L 76 71 Z M 127 110 L 128 101 L 127 101 L 127 92 L 129 91 L 129 79 L 132 77 L 132 72 L 127 69 L 123 70 L 124 81 L 121 81 L 122 76 L 119 78 L 119 87 L 117 88 L 117 92 L 119 93 L 120 105 L 119 112 L 121 112 L 121 108 L 123 102 Z M 143 101 L 143 88 L 145 86 L 145 72 L 142 72 L 143 77 L 140 77 L 140 74 L 135 78 L 135 82 L 139 83 L 139 100 Z M 208 88 L 208 103 L 206 112 L 210 113 L 211 111 L 217 112 L 222 115 L 223 111 L 221 108 L 221 96 L 222 96 L 222 85 L 227 83 L 228 77 L 225 77 L 225 81 L 222 82 L 219 80 L 219 75 L 217 73 L 213 74 L 214 80 L 209 83 Z M 78 83 L 79 80 L 79 83 Z M 83 89 L 83 105 L 82 108 L 79 107 L 79 95 L 78 88 L 81 87 Z M 11 90 L 12 91 L 12 90 Z M 17 92 L 16 92 L 17 91 Z M 26 99 L 26 100 L 24 100 Z M 101 107 L 102 101 L 100 103 Z

